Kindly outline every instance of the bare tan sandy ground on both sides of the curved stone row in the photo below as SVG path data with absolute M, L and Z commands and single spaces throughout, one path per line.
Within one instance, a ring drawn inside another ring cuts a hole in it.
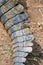
M 35 36 L 35 41 L 43 48 L 43 0 L 26 0 L 26 6 L 29 26 Z M 0 22 L 0 65 L 13 65 L 9 52 L 1 52 L 8 46 L 12 48 L 11 38 Z M 43 61 L 40 65 L 43 65 Z

